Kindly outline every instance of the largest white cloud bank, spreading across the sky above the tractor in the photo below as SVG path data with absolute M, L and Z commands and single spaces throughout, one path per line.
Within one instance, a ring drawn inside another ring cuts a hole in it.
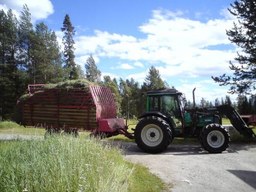
M 208 47 L 230 44 L 225 30 L 232 28 L 232 22 L 225 15 L 223 19 L 203 23 L 183 17 L 180 11 L 160 9 L 153 11 L 152 18 L 138 27 L 146 34 L 145 38 L 95 30 L 93 36 L 75 37 L 75 53 L 135 61 L 134 66 L 140 65 L 138 60 L 160 63 L 158 70 L 163 77 L 219 75 L 230 72 L 229 60 L 233 60 L 236 51 Z M 126 63 L 121 68 L 132 67 Z

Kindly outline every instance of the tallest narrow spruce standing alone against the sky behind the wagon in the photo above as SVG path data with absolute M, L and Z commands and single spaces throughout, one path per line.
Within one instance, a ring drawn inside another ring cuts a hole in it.
M 71 79 L 77 79 L 79 74 L 77 70 L 77 66 L 74 62 L 74 40 L 73 36 L 75 35 L 74 27 L 71 23 L 69 14 L 65 15 L 64 21 L 63 21 L 63 27 L 61 28 L 61 31 L 64 31 L 64 36 L 62 38 L 62 42 L 64 44 L 64 67 L 68 70 L 68 78 Z

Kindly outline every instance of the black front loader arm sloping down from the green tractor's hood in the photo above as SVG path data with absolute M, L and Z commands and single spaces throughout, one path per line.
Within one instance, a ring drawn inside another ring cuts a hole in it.
M 209 108 L 204 108 L 204 110 L 208 112 L 219 112 L 225 115 L 230 120 L 233 127 L 238 132 L 240 132 L 240 134 L 243 134 L 244 136 L 247 136 L 247 137 L 255 137 L 253 130 L 246 125 L 246 123 L 241 118 L 239 113 L 230 105 L 209 107 Z

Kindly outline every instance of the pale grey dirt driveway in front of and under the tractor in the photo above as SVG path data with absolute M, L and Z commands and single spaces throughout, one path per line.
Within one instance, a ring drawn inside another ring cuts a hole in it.
M 199 145 L 171 144 L 161 154 L 146 154 L 134 143 L 120 143 L 125 159 L 141 163 L 167 183 L 171 192 L 256 191 L 256 144 L 232 144 L 222 154 Z

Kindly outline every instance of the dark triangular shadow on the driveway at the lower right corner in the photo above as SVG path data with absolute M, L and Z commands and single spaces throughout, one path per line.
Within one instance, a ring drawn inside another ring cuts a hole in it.
M 245 171 L 245 170 L 227 170 L 234 174 L 239 179 L 256 189 L 256 171 Z

